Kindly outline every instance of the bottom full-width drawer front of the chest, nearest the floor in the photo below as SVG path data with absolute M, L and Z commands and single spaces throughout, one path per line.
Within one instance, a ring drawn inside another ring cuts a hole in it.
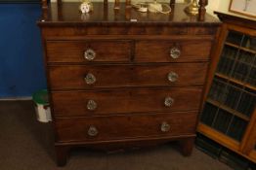
M 194 134 L 196 113 L 56 119 L 57 140 L 107 141 Z M 186 125 L 185 125 L 186 124 Z

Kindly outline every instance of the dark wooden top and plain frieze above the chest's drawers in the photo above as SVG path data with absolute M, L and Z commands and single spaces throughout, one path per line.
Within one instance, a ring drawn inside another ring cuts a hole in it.
M 124 4 L 119 11 L 114 11 L 113 3 L 94 3 L 94 11 L 83 15 L 78 10 L 79 5 L 52 3 L 47 16 L 38 21 L 44 28 L 43 35 L 213 35 L 221 24 L 208 14 L 203 21 L 198 21 L 197 17 L 184 12 L 185 4 L 175 4 L 168 15 L 140 13 L 133 8 L 127 10 Z

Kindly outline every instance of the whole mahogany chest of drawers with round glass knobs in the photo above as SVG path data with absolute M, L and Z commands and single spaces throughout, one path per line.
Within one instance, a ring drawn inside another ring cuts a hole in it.
M 170 15 L 114 13 L 101 3 L 81 15 L 78 5 L 52 4 L 38 22 L 58 163 L 75 146 L 111 150 L 171 140 L 189 155 L 220 22 L 208 15 L 196 21 L 184 5 Z

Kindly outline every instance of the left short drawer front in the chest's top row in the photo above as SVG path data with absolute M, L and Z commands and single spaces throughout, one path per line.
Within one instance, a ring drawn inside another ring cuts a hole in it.
M 129 61 L 131 41 L 47 41 L 48 62 Z

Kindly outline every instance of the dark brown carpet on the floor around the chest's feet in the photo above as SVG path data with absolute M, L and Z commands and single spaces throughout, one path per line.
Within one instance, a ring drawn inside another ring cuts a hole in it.
M 50 123 L 35 119 L 32 101 L 0 102 L 0 170 L 231 170 L 193 150 L 182 156 L 172 145 L 127 153 L 75 150 L 57 167 Z

